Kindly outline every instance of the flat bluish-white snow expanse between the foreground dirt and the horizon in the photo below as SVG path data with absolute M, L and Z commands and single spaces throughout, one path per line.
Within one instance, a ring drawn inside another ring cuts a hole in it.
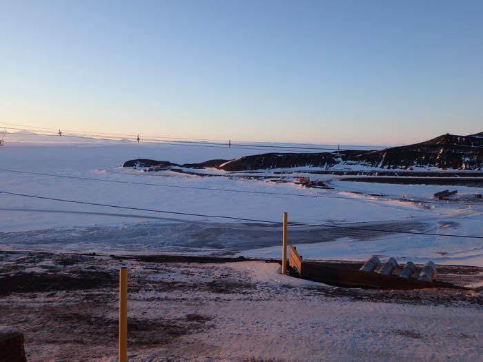
M 67 137 L 58 139 L 61 143 L 57 139 L 52 141 L 52 137 L 39 141 L 38 137 L 28 139 L 28 136 L 7 134 L 6 145 L 0 148 L 0 190 L 263 221 L 280 221 L 282 212 L 286 211 L 289 221 L 313 225 L 337 222 L 357 228 L 483 235 L 482 205 L 428 202 L 432 200 L 433 192 L 445 188 L 442 186 L 356 183 L 339 181 L 333 175 L 321 175 L 319 180 L 335 188 L 323 190 L 263 179 L 228 178 L 219 171 L 219 177 L 197 177 L 170 171 L 142 172 L 119 168 L 119 165 L 137 158 L 186 163 L 233 159 L 262 151 L 92 139 L 77 139 L 73 143 Z M 275 175 L 273 172 L 267 174 Z M 299 175 L 303 175 L 302 170 Z M 483 191 L 461 186 L 457 190 L 460 197 Z M 400 198 L 422 202 L 400 201 Z M 268 224 L 246 225 L 242 221 L 216 217 L 123 210 L 9 194 L 0 194 L 0 202 L 0 247 L 3 249 L 229 252 L 279 257 L 280 230 L 278 226 Z M 357 230 L 346 232 L 344 229 L 300 226 L 290 226 L 289 230 L 290 243 L 302 244 L 299 250 L 306 258 L 366 259 L 372 254 L 380 254 L 400 260 L 432 259 L 437 263 L 483 265 L 482 239 L 382 232 L 368 234 Z

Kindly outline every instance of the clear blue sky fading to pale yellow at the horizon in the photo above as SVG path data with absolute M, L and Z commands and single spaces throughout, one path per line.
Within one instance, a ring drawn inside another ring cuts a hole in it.
M 366 145 L 483 131 L 483 1 L 0 8 L 0 125 Z

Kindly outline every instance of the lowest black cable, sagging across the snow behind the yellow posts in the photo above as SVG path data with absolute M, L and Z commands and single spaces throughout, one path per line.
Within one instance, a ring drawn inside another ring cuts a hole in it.
M 128 206 L 119 206 L 119 205 L 109 205 L 106 203 L 91 203 L 86 201 L 77 201 L 77 200 L 67 200 L 67 199 L 57 199 L 53 197 L 42 197 L 37 195 L 31 194 L 21 194 L 17 192 L 8 192 L 8 191 L 1 191 L 0 194 L 9 194 L 12 196 L 19 196 L 19 197 L 30 197 L 33 199 L 42 199 L 42 200 L 49 200 L 49 201 L 60 201 L 65 203 L 77 203 L 82 205 L 94 205 L 94 206 L 102 206 L 106 208 L 118 208 L 118 209 L 125 209 L 125 210 L 137 210 L 137 211 L 146 211 L 146 212 L 160 212 L 164 214 L 176 214 L 176 215 L 185 215 L 185 216 L 192 216 L 192 217 L 211 217 L 217 219 L 230 219 L 230 220 L 239 220 L 239 221 L 253 221 L 258 223 L 270 223 L 273 225 L 282 225 L 279 221 L 268 221 L 268 220 L 260 220 L 260 219 L 246 219 L 242 217 L 228 217 L 226 215 L 209 215 L 209 214 L 195 214 L 190 212 L 175 212 L 170 210 L 155 210 L 155 209 L 147 209 L 147 208 L 132 208 Z M 390 234 L 413 234 L 413 235 L 428 235 L 428 236 L 435 236 L 435 237 L 458 237 L 458 238 L 469 238 L 469 239 L 483 239 L 483 236 L 478 235 L 462 235 L 462 234 L 439 234 L 436 232 L 413 232 L 413 231 L 401 231 L 401 230 L 384 230 L 384 229 L 377 229 L 377 228 L 358 228 L 355 226 L 342 226 L 342 225 L 334 225 L 331 223 L 326 223 L 324 225 L 313 225 L 309 223 L 289 223 L 290 225 L 297 225 L 297 226 L 314 226 L 314 227 L 321 227 L 321 228 L 337 228 L 337 229 L 345 229 L 345 230 L 361 230 L 361 231 L 372 231 L 372 232 L 386 232 Z

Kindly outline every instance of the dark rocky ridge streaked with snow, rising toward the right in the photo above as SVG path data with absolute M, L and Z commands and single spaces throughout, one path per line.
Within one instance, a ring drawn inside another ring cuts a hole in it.
M 483 132 L 469 136 L 443 134 L 429 141 L 384 150 L 344 150 L 321 153 L 266 153 L 234 160 L 210 160 L 202 163 L 177 165 L 168 161 L 132 160 L 124 167 L 218 168 L 225 171 L 269 170 L 274 168 L 324 168 L 335 165 L 411 170 L 412 168 L 440 168 L 442 170 L 482 170 Z

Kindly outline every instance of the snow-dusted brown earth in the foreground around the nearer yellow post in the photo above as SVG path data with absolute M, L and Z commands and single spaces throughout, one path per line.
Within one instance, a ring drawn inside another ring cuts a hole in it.
M 482 294 L 332 288 L 288 276 L 274 284 L 212 259 L 0 252 L 0 328 L 25 334 L 29 361 L 115 361 L 117 270 L 127 265 L 130 361 L 474 361 L 483 352 Z M 474 281 L 483 269 L 440 273 Z M 409 346 L 417 353 L 404 352 Z

